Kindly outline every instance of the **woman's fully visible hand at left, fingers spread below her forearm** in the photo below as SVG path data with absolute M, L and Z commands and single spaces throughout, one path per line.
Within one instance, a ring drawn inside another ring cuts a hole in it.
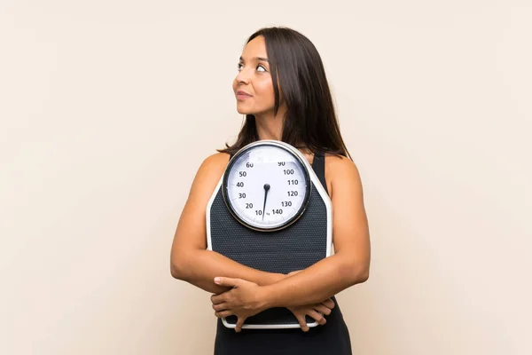
M 231 288 L 220 295 L 211 296 L 215 316 L 218 318 L 237 316 L 236 332 L 242 329 L 248 317 L 267 309 L 262 296 L 262 287 L 256 283 L 227 277 L 215 278 L 215 283 Z

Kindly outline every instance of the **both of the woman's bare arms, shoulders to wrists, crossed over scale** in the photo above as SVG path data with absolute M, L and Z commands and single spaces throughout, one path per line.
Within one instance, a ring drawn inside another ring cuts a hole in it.
M 201 164 L 194 177 L 177 224 L 170 256 L 172 276 L 218 295 L 214 297 L 216 302 L 223 295 L 231 295 L 235 279 L 253 283 L 257 287 L 254 288 L 254 302 L 261 310 L 318 304 L 367 280 L 370 238 L 358 170 L 348 158 L 327 156 L 326 159 L 326 174 L 332 177 L 329 191 L 332 195 L 334 255 L 301 272 L 284 275 L 255 270 L 207 250 L 207 201 L 229 160 L 228 154 L 213 154 Z M 217 284 L 216 277 L 230 281 Z M 247 287 L 251 285 L 242 283 L 240 286 Z

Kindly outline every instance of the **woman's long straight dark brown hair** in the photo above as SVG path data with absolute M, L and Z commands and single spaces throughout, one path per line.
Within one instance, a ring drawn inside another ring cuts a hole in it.
M 281 140 L 292 146 L 308 148 L 312 153 L 348 156 L 340 134 L 332 95 L 325 76 L 325 68 L 316 47 L 309 38 L 291 28 L 261 28 L 250 36 L 246 44 L 263 36 L 270 63 L 275 95 L 275 114 L 279 108 L 279 85 L 286 103 L 285 124 Z M 235 154 L 240 148 L 258 140 L 253 114 L 246 114 L 246 122 L 237 141 L 220 153 Z

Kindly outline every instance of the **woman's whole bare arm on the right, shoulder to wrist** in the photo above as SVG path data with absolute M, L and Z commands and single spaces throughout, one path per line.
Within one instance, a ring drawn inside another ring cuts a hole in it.
M 327 159 L 332 178 L 335 255 L 262 289 L 266 308 L 314 304 L 369 277 L 370 237 L 362 183 L 354 162 Z

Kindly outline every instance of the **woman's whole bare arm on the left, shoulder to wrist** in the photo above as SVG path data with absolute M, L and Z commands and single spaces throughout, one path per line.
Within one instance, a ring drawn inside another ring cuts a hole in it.
M 230 289 L 216 285 L 215 276 L 249 280 L 261 286 L 286 277 L 255 270 L 207 250 L 207 202 L 228 162 L 229 154 L 214 154 L 201 164 L 179 218 L 170 255 L 170 272 L 174 278 L 215 294 Z

